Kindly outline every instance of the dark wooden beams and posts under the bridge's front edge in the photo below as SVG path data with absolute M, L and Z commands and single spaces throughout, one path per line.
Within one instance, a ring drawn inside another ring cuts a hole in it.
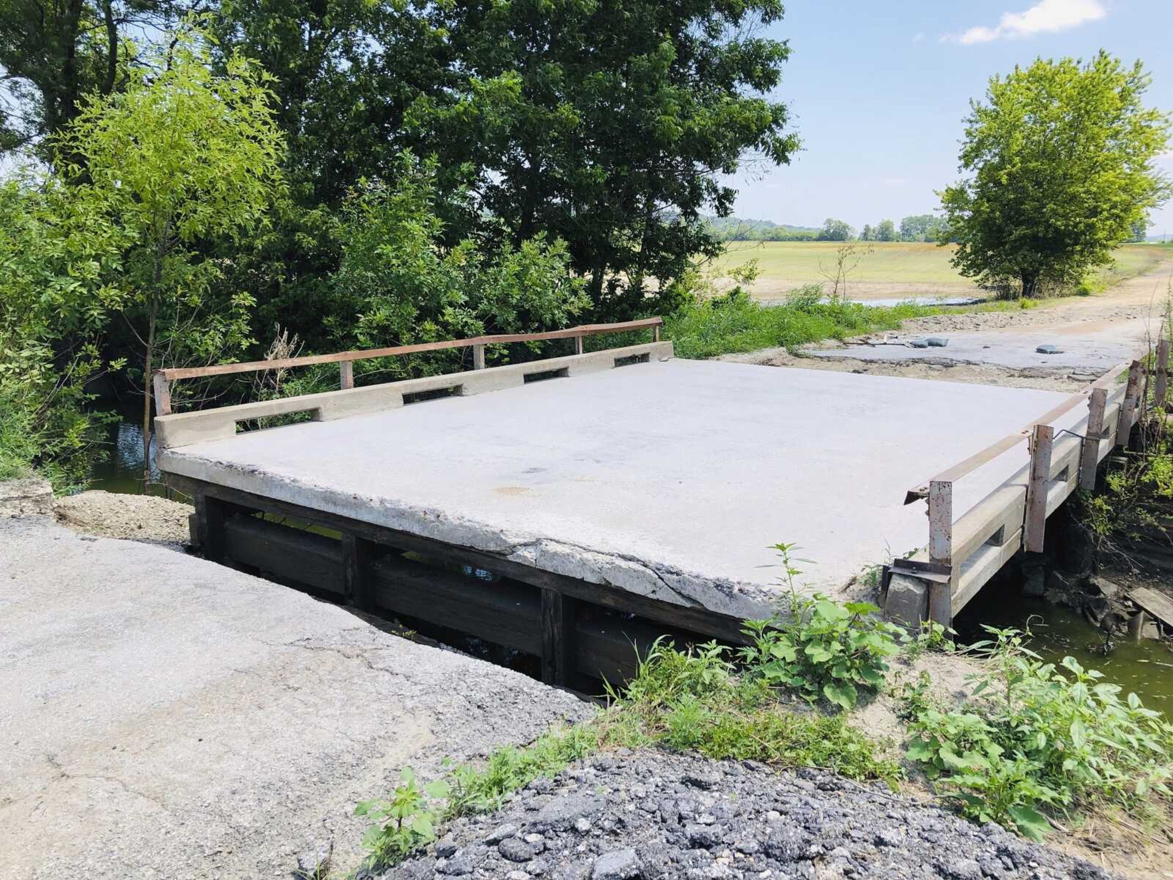
M 738 617 L 543 571 L 483 550 L 165 474 L 196 499 L 205 555 L 381 614 L 455 630 L 541 659 L 542 679 L 590 690 L 630 678 L 659 636 L 745 644 Z M 340 537 L 272 522 L 271 514 Z M 405 555 L 406 554 L 406 555 Z

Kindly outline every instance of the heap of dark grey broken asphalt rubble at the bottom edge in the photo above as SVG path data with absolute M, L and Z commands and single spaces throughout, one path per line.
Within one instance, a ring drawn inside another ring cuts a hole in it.
M 609 753 L 457 819 L 379 875 L 507 880 L 1107 880 L 1089 862 L 822 771 Z

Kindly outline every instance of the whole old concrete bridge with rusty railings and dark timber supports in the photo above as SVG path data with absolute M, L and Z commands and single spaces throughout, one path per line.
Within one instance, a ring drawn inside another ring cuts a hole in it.
M 584 686 L 632 645 L 744 639 L 804 589 L 949 622 L 1127 441 L 1148 377 L 1074 395 L 682 360 L 658 318 L 155 374 L 169 486 L 213 560 L 541 659 Z M 619 347 L 588 350 L 623 333 Z M 645 333 L 646 341 L 632 341 Z M 572 353 L 486 367 L 486 347 Z M 589 343 L 589 344 L 588 344 Z M 353 364 L 457 348 L 470 368 L 355 387 Z M 339 387 L 176 413 L 172 383 L 323 364 Z M 301 419 L 263 429 L 264 420 Z M 259 421 L 258 421 L 259 420 Z M 928 516 L 925 516 L 928 513 Z

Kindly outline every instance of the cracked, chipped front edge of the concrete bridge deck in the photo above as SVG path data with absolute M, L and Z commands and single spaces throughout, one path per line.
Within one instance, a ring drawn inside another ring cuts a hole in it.
M 713 577 L 630 554 L 507 532 L 467 516 L 393 499 L 338 492 L 327 486 L 291 480 L 279 472 L 225 465 L 182 449 L 164 451 L 160 456 L 160 468 L 164 473 L 468 547 L 543 571 L 588 583 L 609 584 L 678 605 L 752 618 L 769 617 L 785 610 L 785 596 L 765 583 Z

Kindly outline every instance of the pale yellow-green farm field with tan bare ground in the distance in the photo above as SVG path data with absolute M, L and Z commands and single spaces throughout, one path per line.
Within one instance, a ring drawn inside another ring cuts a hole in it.
M 758 260 L 761 271 L 753 293 L 758 299 L 775 299 L 812 282 L 826 282 L 834 273 L 840 242 L 731 242 L 717 263 L 717 273 L 727 286 L 730 269 Z M 847 293 L 854 299 L 900 299 L 904 297 L 955 297 L 977 293 L 978 289 L 950 265 L 952 245 L 944 248 L 924 242 L 857 242 L 862 255 L 850 275 Z M 872 248 L 870 253 L 865 251 Z M 1153 244 L 1126 244 L 1117 251 L 1116 265 L 1099 273 L 1099 283 L 1111 286 L 1141 275 L 1157 265 L 1171 250 Z

